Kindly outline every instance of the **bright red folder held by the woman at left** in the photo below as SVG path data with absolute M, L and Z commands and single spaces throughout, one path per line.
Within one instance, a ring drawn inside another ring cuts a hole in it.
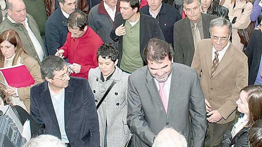
M 24 64 L 0 68 L 0 71 L 9 86 L 20 88 L 35 83 L 35 80 Z

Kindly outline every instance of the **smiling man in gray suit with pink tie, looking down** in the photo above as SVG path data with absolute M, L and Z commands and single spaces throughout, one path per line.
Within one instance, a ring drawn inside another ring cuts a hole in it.
M 129 76 L 127 123 L 133 147 L 152 146 L 165 126 L 181 132 L 188 147 L 204 144 L 207 122 L 199 77 L 194 69 L 173 63 L 173 55 L 167 42 L 150 39 L 143 53 L 148 65 Z

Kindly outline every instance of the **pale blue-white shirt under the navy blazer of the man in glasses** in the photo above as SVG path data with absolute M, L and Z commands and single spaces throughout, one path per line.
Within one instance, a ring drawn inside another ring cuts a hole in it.
M 54 94 L 48 83 L 48 88 L 50 91 L 51 100 L 54 107 L 54 112 L 58 121 L 60 133 L 61 133 L 61 140 L 63 143 L 69 143 L 69 140 L 66 135 L 65 129 L 65 88 L 60 92 L 60 94 Z

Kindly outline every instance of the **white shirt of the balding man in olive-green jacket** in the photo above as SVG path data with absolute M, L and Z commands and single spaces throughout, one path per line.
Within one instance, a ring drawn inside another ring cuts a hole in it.
M 11 21 L 11 23 L 17 23 L 12 18 L 10 18 L 9 15 L 7 15 L 7 18 Z M 37 38 L 35 37 L 35 34 L 30 29 L 27 18 L 24 21 L 24 23 L 26 25 L 25 27 L 26 27 L 27 33 L 28 33 L 28 35 L 29 35 L 29 37 L 30 37 L 34 47 L 35 47 L 35 51 L 36 51 L 40 61 L 42 61 L 44 59 L 44 52 L 43 52 L 42 46 L 40 45 L 40 43 L 38 42 Z

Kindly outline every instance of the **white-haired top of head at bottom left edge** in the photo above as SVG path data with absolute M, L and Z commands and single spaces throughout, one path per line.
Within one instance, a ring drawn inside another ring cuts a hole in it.
M 52 135 L 39 135 L 30 139 L 24 147 L 66 147 L 60 139 Z

